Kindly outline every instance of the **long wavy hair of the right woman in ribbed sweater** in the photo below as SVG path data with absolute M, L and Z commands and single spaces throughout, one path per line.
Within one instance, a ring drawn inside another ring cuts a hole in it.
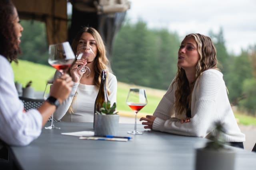
M 192 83 L 192 88 L 186 77 L 185 70 L 178 66 L 174 83 L 176 84 L 174 109 L 178 114 L 182 114 L 184 111 L 188 111 L 191 108 L 191 97 L 194 88 L 194 83 L 200 77 L 202 72 L 210 68 L 217 68 L 216 49 L 210 37 L 201 35 L 199 33 L 192 33 L 186 35 L 187 37 L 193 37 L 198 45 L 197 51 L 199 54 L 199 60 L 196 64 L 195 81 Z M 172 84 L 173 87 L 173 84 Z

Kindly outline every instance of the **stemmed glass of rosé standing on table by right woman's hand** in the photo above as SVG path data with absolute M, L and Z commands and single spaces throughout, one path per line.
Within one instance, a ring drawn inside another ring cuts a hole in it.
M 142 134 L 142 132 L 137 131 L 137 113 L 148 103 L 145 89 L 142 88 L 130 88 L 128 93 L 126 104 L 131 107 L 131 109 L 135 112 L 135 125 L 134 131 L 129 131 L 129 134 Z

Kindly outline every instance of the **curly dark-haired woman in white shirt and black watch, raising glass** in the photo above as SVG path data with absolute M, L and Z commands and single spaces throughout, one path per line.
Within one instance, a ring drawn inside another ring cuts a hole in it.
M 10 63 L 18 62 L 23 27 L 10 0 L 0 1 L 0 145 L 24 146 L 36 139 L 42 126 L 69 95 L 73 86 L 68 74 L 54 81 L 50 97 L 38 109 L 24 111 L 14 85 Z M 1 147 L 0 147 L 1 148 Z

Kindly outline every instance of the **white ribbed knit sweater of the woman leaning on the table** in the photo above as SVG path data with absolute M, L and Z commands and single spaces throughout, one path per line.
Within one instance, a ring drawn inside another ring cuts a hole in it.
M 222 135 L 226 142 L 244 142 L 245 135 L 236 123 L 222 77 L 221 72 L 210 69 L 204 71 L 196 80 L 191 101 L 192 118 L 188 123 L 181 123 L 179 120 L 185 118 L 186 113 L 177 115 L 174 112 L 176 84 L 174 83 L 173 88 L 170 85 L 154 111 L 156 119 L 152 129 L 178 135 L 206 137 L 210 133 L 214 135 L 214 123 L 220 121 L 224 125 L 225 133 Z

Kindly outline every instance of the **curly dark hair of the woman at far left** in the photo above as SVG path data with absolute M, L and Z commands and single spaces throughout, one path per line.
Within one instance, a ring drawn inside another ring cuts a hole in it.
M 20 48 L 17 37 L 14 34 L 14 4 L 11 0 L 0 1 L 0 55 L 3 55 L 10 61 L 18 62 L 17 57 L 20 54 Z

